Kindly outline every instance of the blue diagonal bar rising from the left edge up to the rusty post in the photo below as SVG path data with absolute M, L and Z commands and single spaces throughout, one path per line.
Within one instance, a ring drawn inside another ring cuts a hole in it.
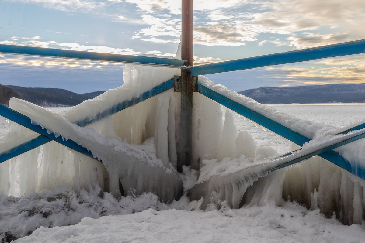
M 111 107 L 108 110 L 105 110 L 99 114 L 96 115 L 95 119 L 84 119 L 81 121 L 76 122 L 78 126 L 86 126 L 93 122 L 99 121 L 100 119 L 103 119 L 107 117 L 108 115 L 112 115 L 117 113 L 118 111 L 124 110 L 128 107 L 131 107 L 133 105 L 136 105 L 139 102 L 145 101 L 148 98 L 151 98 L 155 95 L 161 94 L 162 92 L 172 89 L 174 86 L 174 80 L 170 79 L 164 83 L 161 83 L 160 85 L 153 87 L 151 90 L 146 91 L 139 95 L 138 97 L 132 98 L 130 101 L 123 101 L 118 103 L 118 105 Z M 0 107 L 0 115 L 1 113 L 1 107 Z M 16 157 L 22 153 L 25 153 L 31 149 L 37 148 L 38 146 L 41 146 L 47 142 L 50 142 L 51 139 L 45 136 L 38 136 L 37 138 L 34 138 L 28 142 L 25 142 L 24 144 L 18 145 L 8 151 L 5 151 L 4 153 L 0 154 L 0 163 L 9 160 L 10 158 Z

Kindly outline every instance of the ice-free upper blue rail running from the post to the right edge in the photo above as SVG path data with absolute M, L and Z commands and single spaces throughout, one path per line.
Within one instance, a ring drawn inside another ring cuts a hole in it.
M 352 42 L 333 44 L 329 46 L 281 52 L 264 56 L 255 56 L 251 58 L 243 58 L 227 62 L 205 64 L 201 66 L 189 67 L 189 69 L 192 76 L 197 76 L 214 74 L 218 72 L 245 70 L 250 68 L 272 66 L 278 64 L 304 62 L 321 58 L 330 58 L 334 56 L 360 54 L 364 52 L 365 40 L 355 40 Z

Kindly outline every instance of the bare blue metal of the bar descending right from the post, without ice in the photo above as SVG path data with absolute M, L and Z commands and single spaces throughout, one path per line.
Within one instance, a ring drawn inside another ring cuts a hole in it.
M 253 122 L 256 122 L 257 124 L 271 130 L 272 132 L 280 135 L 281 137 L 284 137 L 292 142 L 294 142 L 297 145 L 302 146 L 305 142 L 309 142 L 311 139 L 307 138 L 289 128 L 287 128 L 284 125 L 279 124 L 276 121 L 273 121 L 270 118 L 265 117 L 264 115 L 261 115 L 260 113 L 257 113 L 256 111 L 253 111 L 240 103 L 231 100 L 230 98 L 225 97 L 222 94 L 219 94 L 218 92 L 209 89 L 208 87 L 205 87 L 201 83 L 198 82 L 198 92 L 200 94 L 203 94 L 204 96 L 214 100 L 215 102 L 220 103 L 223 106 L 226 106 L 228 109 L 233 110 L 237 112 L 238 114 L 243 115 L 244 117 L 250 119 Z M 335 151 L 327 151 L 322 152 L 319 154 L 322 158 L 340 166 L 341 168 L 345 169 L 346 171 L 349 171 L 353 173 L 354 175 L 357 175 L 363 179 L 365 179 L 365 171 L 363 168 L 354 168 L 351 166 L 350 162 L 347 161 L 345 158 L 343 158 L 340 154 L 338 154 Z M 294 162 L 295 163 L 295 162 Z M 357 174 L 360 173 L 360 174 Z

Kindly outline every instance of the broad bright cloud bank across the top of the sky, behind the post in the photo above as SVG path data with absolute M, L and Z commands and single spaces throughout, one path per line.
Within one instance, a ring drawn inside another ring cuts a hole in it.
M 150 42 L 175 43 L 181 34 L 181 1 L 177 0 L 15 1 L 68 13 L 96 13 L 111 21 L 147 24 L 134 38 Z M 241 46 L 259 41 L 261 45 L 303 48 L 362 39 L 365 34 L 364 0 L 194 0 L 193 6 L 195 43 L 207 46 Z M 270 39 L 272 36 L 275 40 Z

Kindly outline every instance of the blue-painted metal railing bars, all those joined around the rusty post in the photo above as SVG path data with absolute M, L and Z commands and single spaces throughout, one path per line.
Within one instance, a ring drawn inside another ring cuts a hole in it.
M 181 82 L 185 81 L 196 82 L 197 79 L 190 79 L 189 81 L 189 77 L 192 76 L 211 74 L 217 72 L 227 72 L 234 70 L 244 70 L 249 68 L 256 68 L 256 67 L 277 65 L 284 63 L 303 62 L 307 60 L 315 60 L 334 56 L 360 54 L 364 53 L 364 50 L 365 50 L 365 40 L 357 40 L 353 42 L 339 43 L 330 46 L 315 47 L 299 51 L 291 51 L 291 52 L 284 52 L 266 56 L 258 56 L 253 58 L 245 58 L 228 62 L 206 64 L 196 67 L 183 67 L 183 63 L 185 62 L 185 60 L 150 58 L 145 56 L 136 57 L 136 56 L 125 56 L 116 54 L 100 54 L 87 51 L 57 50 L 51 48 L 0 45 L 0 53 L 6 53 L 6 54 L 87 59 L 87 60 L 99 60 L 106 62 L 150 64 L 154 66 L 178 67 L 185 70 L 183 71 L 185 79 L 181 79 L 181 81 L 179 79 L 175 79 L 174 81 L 173 79 L 166 81 L 165 83 L 162 83 L 162 85 L 156 86 L 153 89 L 146 91 L 145 93 L 143 93 L 138 97 L 134 97 L 129 101 L 123 101 L 116 106 L 110 107 L 108 110 L 101 111 L 96 115 L 96 117 L 92 119 L 84 118 L 81 119 L 80 121 L 77 121 L 76 124 L 79 126 L 88 125 L 101 118 L 107 117 L 108 115 L 114 114 L 122 109 L 135 105 L 140 101 L 150 98 L 172 87 L 174 87 L 175 91 L 180 91 L 182 93 L 187 92 L 186 90 L 181 88 Z M 176 80 L 180 81 L 180 83 L 176 82 Z M 305 142 L 309 142 L 311 140 L 313 136 L 313 131 L 308 131 L 303 126 L 298 126 L 298 125 L 295 125 L 293 127 L 288 127 L 288 124 L 295 124 L 295 123 L 280 121 L 280 119 L 277 120 L 275 114 L 270 113 L 270 111 L 268 112 L 265 111 L 264 106 L 260 105 L 253 105 L 252 107 L 247 107 L 247 105 L 245 106 L 244 104 L 242 104 L 241 102 L 242 100 L 240 101 L 240 98 L 237 95 L 233 94 L 233 91 L 227 92 L 224 91 L 224 89 L 219 89 L 219 87 L 214 85 L 211 85 L 211 88 L 209 88 L 208 86 L 210 86 L 210 84 L 204 83 L 204 79 L 202 81 L 199 80 L 196 84 L 192 83 L 191 86 L 188 87 L 188 89 L 191 89 L 188 90 L 188 92 L 198 91 L 199 93 L 207 96 L 208 98 L 211 98 L 214 101 L 236 111 L 237 113 L 251 119 L 252 121 L 264 126 L 269 130 L 272 130 L 273 132 L 287 138 L 288 140 L 295 142 L 298 145 L 303 145 Z M 18 122 L 21 125 L 27 126 L 27 128 L 30 128 L 31 130 L 34 130 L 35 132 L 38 132 L 39 134 L 42 135 L 31 141 L 28 141 L 12 149 L 4 151 L 0 155 L 2 161 L 17 156 L 28 150 L 31 150 L 32 148 L 36 148 L 37 146 L 45 144 L 46 142 L 49 142 L 51 140 L 57 141 L 57 138 L 54 136 L 54 134 L 52 133 L 51 135 L 46 134 L 45 132 L 42 132 L 42 130 L 36 127 L 32 127 L 30 119 L 24 117 L 24 115 L 16 113 L 15 111 L 12 111 L 11 109 L 5 106 L 1 106 L 0 111 L 4 117 L 7 117 L 12 121 Z M 283 123 L 286 125 L 284 125 Z M 357 125 L 354 128 L 350 128 L 347 130 L 361 129 L 363 126 L 364 125 Z M 87 149 L 81 148 L 80 145 L 75 144 L 74 141 L 72 141 L 71 139 L 58 142 L 78 152 L 92 156 L 92 154 Z M 351 164 L 345 158 L 340 156 L 338 153 L 329 151 L 321 153 L 320 156 L 326 158 L 327 160 L 333 162 L 336 165 L 339 165 L 341 168 L 346 169 L 351 173 L 356 173 L 357 176 L 365 179 L 364 168 L 353 168 L 353 166 L 351 166 Z

